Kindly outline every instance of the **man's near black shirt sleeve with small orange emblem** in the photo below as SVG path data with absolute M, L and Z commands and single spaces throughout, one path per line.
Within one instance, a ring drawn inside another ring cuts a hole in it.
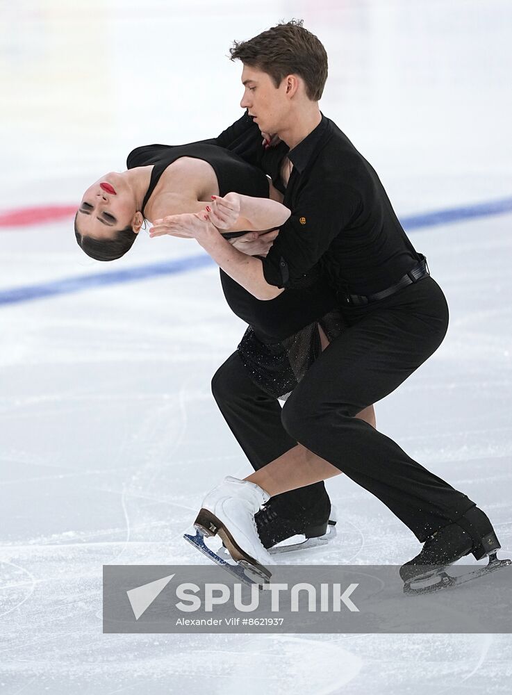
M 358 215 L 361 195 L 339 177 L 316 176 L 297 195 L 290 218 L 263 259 L 263 275 L 279 288 L 311 270 Z

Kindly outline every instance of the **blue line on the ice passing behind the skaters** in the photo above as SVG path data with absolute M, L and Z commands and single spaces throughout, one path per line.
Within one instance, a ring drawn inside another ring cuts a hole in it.
M 412 215 L 402 218 L 404 229 L 413 231 L 422 227 L 436 227 L 438 224 L 450 224 L 479 217 L 490 217 L 512 212 L 512 198 L 504 198 L 486 203 L 466 205 L 458 208 L 448 208 L 422 215 Z M 67 295 L 72 292 L 80 292 L 104 285 L 114 285 L 120 282 L 133 282 L 158 277 L 158 275 L 176 275 L 180 272 L 197 270 L 205 266 L 213 265 L 210 256 L 201 254 L 188 256 L 176 261 L 163 261 L 161 263 L 148 263 L 136 268 L 124 270 L 110 270 L 108 272 L 92 273 L 78 277 L 69 277 L 61 280 L 44 282 L 36 285 L 14 287 L 0 291 L 1 304 L 16 304 L 28 300 L 43 299 L 55 295 Z

